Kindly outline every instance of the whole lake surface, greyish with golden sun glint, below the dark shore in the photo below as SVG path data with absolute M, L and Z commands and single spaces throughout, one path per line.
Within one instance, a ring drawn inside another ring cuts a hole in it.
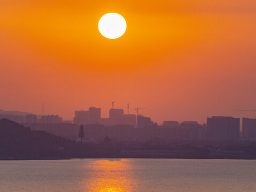
M 205 159 L 0 161 L 0 191 L 256 191 L 256 161 Z

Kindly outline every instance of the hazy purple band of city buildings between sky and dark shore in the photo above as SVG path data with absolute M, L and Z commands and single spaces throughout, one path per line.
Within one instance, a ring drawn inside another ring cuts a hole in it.
M 164 121 L 163 124 L 157 124 L 151 121 L 150 117 L 124 114 L 123 109 L 115 108 L 110 108 L 109 118 L 101 118 L 101 109 L 90 107 L 87 111 L 75 111 L 73 121 L 63 121 L 58 115 L 42 115 L 39 118 L 33 114 L 26 116 L 0 114 L 0 119 L 3 122 L 13 121 L 31 130 L 46 131 L 71 140 L 79 139 L 77 133 L 80 127 L 85 142 L 97 143 L 102 142 L 104 137 L 112 141 L 167 142 L 243 142 L 256 139 L 256 118 L 243 118 L 240 121 L 240 118 L 212 116 L 207 117 L 207 124 L 199 124 L 197 121 Z M 81 138 L 80 132 L 79 137 Z

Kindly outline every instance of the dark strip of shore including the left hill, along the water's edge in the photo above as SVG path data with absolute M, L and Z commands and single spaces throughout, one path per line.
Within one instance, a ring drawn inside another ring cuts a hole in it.
M 253 141 L 76 142 L 0 119 L 0 161 L 71 158 L 256 159 Z

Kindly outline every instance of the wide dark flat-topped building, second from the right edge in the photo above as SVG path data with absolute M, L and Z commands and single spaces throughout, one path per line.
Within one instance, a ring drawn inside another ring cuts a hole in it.
M 208 117 L 207 134 L 211 139 L 238 139 L 240 119 L 234 117 Z

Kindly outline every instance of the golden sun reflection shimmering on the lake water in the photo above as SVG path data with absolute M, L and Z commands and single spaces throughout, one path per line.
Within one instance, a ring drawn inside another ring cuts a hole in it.
M 131 175 L 131 161 L 94 161 L 89 182 L 84 183 L 89 192 L 131 192 L 135 182 Z

